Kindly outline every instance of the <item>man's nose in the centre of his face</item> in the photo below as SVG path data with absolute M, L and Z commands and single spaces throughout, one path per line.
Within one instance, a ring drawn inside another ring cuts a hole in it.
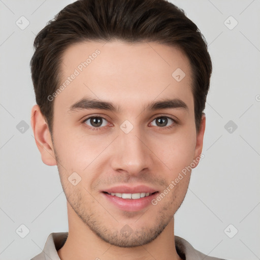
M 118 137 L 113 142 L 112 168 L 114 171 L 126 172 L 138 176 L 152 165 L 152 152 L 147 139 L 139 127 L 134 127 L 128 134 L 119 129 Z

